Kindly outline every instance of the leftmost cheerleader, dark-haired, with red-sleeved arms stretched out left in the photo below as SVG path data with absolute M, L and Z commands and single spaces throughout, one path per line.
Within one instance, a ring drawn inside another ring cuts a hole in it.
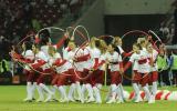
M 27 98 L 23 101 L 32 101 L 33 92 L 35 88 L 35 83 L 33 81 L 34 78 L 34 71 L 30 69 L 29 64 L 33 62 L 34 53 L 32 52 L 32 44 L 30 42 L 23 42 L 22 43 L 22 54 L 18 54 L 14 51 L 14 48 L 10 52 L 11 56 L 13 56 L 14 61 L 19 61 L 21 63 L 24 63 L 23 73 L 27 74 Z

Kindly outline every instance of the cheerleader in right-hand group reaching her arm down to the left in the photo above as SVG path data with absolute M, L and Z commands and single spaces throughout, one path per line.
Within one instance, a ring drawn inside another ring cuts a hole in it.
M 145 51 L 140 51 L 140 46 L 137 43 L 133 44 L 133 51 L 134 51 L 134 53 L 131 56 L 129 62 L 126 63 L 124 71 L 126 71 L 128 69 L 128 67 L 131 67 L 132 63 L 137 61 L 137 63 L 138 63 L 137 72 L 140 75 L 140 77 L 138 77 L 138 79 L 140 79 L 139 83 L 146 93 L 146 97 L 148 99 L 148 103 L 154 103 L 152 100 L 152 97 L 150 97 L 150 92 L 147 87 L 148 73 L 150 71 L 150 65 L 148 63 L 147 53 Z

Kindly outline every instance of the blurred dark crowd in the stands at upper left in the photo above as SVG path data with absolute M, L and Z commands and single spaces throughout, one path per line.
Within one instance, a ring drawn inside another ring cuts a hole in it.
M 0 60 L 27 34 L 50 27 L 65 14 L 76 17 L 83 0 L 0 0 Z

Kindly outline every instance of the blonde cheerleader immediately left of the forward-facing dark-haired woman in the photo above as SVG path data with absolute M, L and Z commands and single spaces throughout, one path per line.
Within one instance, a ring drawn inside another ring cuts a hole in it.
M 95 103 L 102 103 L 100 90 L 104 82 L 105 68 L 103 64 L 105 63 L 105 48 L 106 43 L 95 37 L 92 37 L 91 43 L 87 47 L 91 59 L 88 61 L 90 65 L 86 65 L 85 69 L 90 70 L 88 73 L 91 75 L 86 85 L 92 85 L 95 94 Z M 91 99 L 88 99 L 87 102 L 91 102 Z

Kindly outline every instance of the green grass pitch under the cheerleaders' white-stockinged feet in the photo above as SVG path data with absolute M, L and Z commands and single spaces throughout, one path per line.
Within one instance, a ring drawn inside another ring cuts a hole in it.
M 107 88 L 104 88 L 105 90 Z M 124 87 L 132 91 L 131 87 Z M 177 88 L 162 88 L 176 90 Z M 102 91 L 104 100 L 106 92 Z M 0 85 L 0 111 L 177 111 L 177 101 L 156 101 L 154 104 L 126 102 L 123 104 L 60 103 L 60 102 L 23 102 L 24 85 Z

